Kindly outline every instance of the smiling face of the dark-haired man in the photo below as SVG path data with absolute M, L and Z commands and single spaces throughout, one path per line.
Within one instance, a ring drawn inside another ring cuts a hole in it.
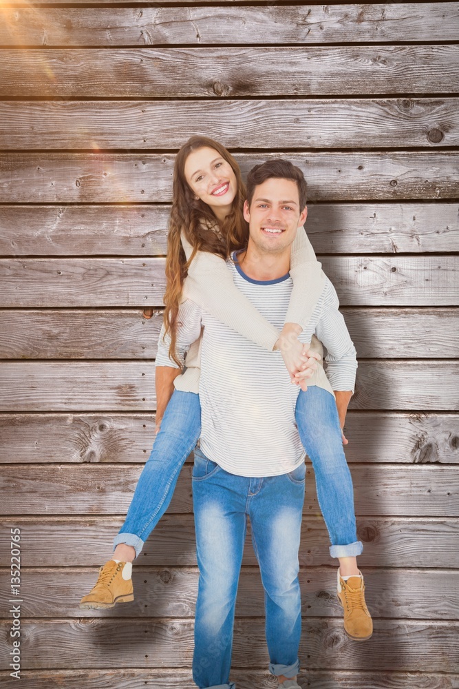
M 290 247 L 307 214 L 299 207 L 298 187 L 290 179 L 267 179 L 255 187 L 250 208 L 244 203 L 250 241 L 269 254 L 282 254 Z

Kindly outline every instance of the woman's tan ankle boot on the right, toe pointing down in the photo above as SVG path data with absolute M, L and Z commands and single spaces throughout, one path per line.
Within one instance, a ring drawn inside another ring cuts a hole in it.
M 363 576 L 345 582 L 338 568 L 338 599 L 344 610 L 344 631 L 355 641 L 366 641 L 373 633 L 373 622 L 365 604 Z

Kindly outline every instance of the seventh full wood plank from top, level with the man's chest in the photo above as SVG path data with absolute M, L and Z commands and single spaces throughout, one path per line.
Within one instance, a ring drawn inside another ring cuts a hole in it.
M 346 308 L 359 358 L 458 358 L 458 309 Z M 162 310 L 151 320 L 134 309 L 0 311 L 0 358 L 151 359 Z

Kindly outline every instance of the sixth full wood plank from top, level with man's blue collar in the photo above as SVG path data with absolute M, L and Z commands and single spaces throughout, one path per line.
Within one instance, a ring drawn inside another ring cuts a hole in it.
M 321 262 L 341 306 L 459 304 L 458 256 L 325 256 Z M 162 306 L 164 265 L 164 258 L 2 258 L 2 305 Z

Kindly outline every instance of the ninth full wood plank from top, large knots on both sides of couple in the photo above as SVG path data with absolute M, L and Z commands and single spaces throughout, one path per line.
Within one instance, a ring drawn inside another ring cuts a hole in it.
M 459 415 L 350 411 L 348 462 L 459 464 Z M 1 414 L 0 462 L 140 462 L 155 435 L 147 414 Z M 191 458 L 190 458 L 191 461 Z

